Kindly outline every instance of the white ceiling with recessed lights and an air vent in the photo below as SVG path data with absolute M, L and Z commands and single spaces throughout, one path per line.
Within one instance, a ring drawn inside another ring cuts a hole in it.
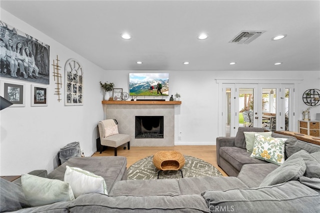
M 319 0 L 0 3 L 105 70 L 320 70 Z M 241 30 L 265 32 L 249 44 L 229 43 Z M 120 38 L 122 32 L 132 39 Z M 200 32 L 209 37 L 198 40 Z M 278 34 L 287 36 L 271 40 Z

